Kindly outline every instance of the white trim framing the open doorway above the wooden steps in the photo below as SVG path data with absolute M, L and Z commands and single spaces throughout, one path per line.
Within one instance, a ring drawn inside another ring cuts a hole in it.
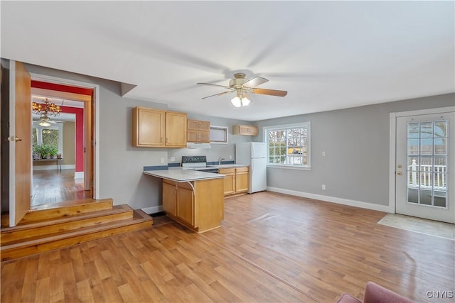
M 93 199 L 100 199 L 100 148 L 97 147 L 98 138 L 100 138 L 100 85 L 93 84 L 89 82 L 81 82 L 72 79 L 65 79 L 60 77 L 53 77 L 48 75 L 42 75 L 34 72 L 30 72 L 31 78 L 33 80 L 43 81 L 43 82 L 53 82 L 57 84 L 66 84 L 66 85 L 75 85 L 79 87 L 86 87 L 89 89 L 93 89 L 93 125 L 92 125 L 92 133 L 93 133 Z M 84 122 L 85 123 L 85 122 Z M 84 126 L 86 127 L 86 126 Z M 84 140 L 85 142 L 85 140 Z M 85 161 L 87 162 L 87 161 Z M 86 164 L 85 164 L 86 166 Z M 84 171 L 86 167 L 84 167 Z

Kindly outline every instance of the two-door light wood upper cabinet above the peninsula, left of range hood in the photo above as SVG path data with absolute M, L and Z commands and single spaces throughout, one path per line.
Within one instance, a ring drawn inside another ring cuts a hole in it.
M 133 109 L 132 145 L 137 147 L 186 147 L 186 114 L 159 109 Z

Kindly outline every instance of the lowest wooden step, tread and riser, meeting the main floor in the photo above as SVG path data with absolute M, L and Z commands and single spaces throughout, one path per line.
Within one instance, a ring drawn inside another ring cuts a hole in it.
M 88 226 L 79 228 L 68 233 L 58 233 L 45 238 L 33 239 L 21 243 L 1 246 L 1 260 L 11 260 L 21 258 L 26 255 L 42 253 L 44 251 L 53 250 L 73 246 L 75 244 L 84 243 L 87 241 L 105 238 L 127 231 L 134 231 L 141 228 L 149 227 L 153 224 L 153 219 L 148 214 L 140 209 L 133 211 L 133 217 L 96 226 Z

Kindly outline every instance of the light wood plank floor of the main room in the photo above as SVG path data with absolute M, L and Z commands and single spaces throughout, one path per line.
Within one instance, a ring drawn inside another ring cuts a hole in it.
M 336 302 L 374 281 L 415 302 L 454 291 L 455 242 L 380 211 L 260 192 L 223 226 L 175 223 L 1 263 L 1 302 Z M 445 299 L 451 302 L 453 299 Z

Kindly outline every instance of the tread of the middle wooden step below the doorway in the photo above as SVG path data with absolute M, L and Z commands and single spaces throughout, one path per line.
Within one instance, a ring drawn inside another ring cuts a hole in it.
M 42 221 L 34 221 L 33 223 L 23 224 L 13 227 L 1 228 L 0 233 L 11 233 L 14 231 L 23 231 L 31 228 L 39 228 L 43 226 L 53 225 L 53 224 L 63 224 L 71 221 L 77 221 L 80 219 L 90 219 L 97 216 L 108 216 L 112 214 L 121 214 L 123 212 L 133 211 L 133 209 L 128 204 L 115 205 L 112 209 L 101 210 L 101 211 L 90 211 L 87 213 L 75 214 L 73 216 L 64 216 L 58 219 L 46 219 Z

